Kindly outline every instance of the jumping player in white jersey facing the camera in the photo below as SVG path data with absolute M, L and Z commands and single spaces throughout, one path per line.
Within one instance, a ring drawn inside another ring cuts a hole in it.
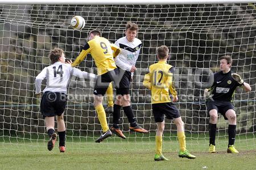
M 115 41 L 115 45 L 119 46 L 122 50 L 121 53 L 115 58 L 115 65 L 118 67 L 119 75 L 122 75 L 119 88 L 116 89 L 117 97 L 114 103 L 113 112 L 113 126 L 110 128 L 113 133 L 117 134 L 118 137 L 125 139 L 122 131 L 119 128 L 120 120 L 120 109 L 123 107 L 123 112 L 126 114 L 130 123 L 129 129 L 131 131 L 137 131 L 139 133 L 148 133 L 146 129 L 141 128 L 137 124 L 134 118 L 133 110 L 130 104 L 129 87 L 130 82 L 133 79 L 134 71 L 137 70 L 135 63 L 138 59 L 139 52 L 141 50 L 142 42 L 137 39 L 138 25 L 135 23 L 128 22 L 126 24 L 125 37 Z M 108 94 L 113 91 L 111 87 L 108 88 Z M 111 107 L 106 108 L 106 111 L 112 111 Z

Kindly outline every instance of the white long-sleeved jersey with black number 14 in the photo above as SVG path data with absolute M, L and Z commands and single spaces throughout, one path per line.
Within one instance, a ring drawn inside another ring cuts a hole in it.
M 43 92 L 63 92 L 67 94 L 67 87 L 71 76 L 77 76 L 79 78 L 96 78 L 95 74 L 90 74 L 85 71 L 81 71 L 72 67 L 70 64 L 55 62 L 53 65 L 44 67 L 42 72 L 36 76 L 35 88 L 36 94 L 41 92 L 42 80 L 46 78 L 46 88 Z

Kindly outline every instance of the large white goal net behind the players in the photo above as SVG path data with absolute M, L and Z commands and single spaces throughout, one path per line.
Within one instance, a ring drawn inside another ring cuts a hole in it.
M 70 26 L 75 15 L 86 21 L 82 31 Z M 131 106 L 138 124 L 150 133 L 131 133 L 127 117 L 121 110 L 121 129 L 127 140 L 113 135 L 106 142 L 118 145 L 135 142 L 139 148 L 154 150 L 156 124 L 151 111 L 150 91 L 143 87 L 142 82 L 148 66 L 157 61 L 156 48 L 167 45 L 171 50 L 167 62 L 176 67 L 175 87 L 179 97 L 176 106 L 185 123 L 190 150 L 208 148 L 209 116 L 203 91 L 209 75 L 219 70 L 218 57 L 224 54 L 233 58 L 232 71 L 240 74 L 252 87 L 251 92 L 238 88 L 233 98 L 237 114 L 236 145 L 240 148 L 255 146 L 255 19 L 256 6 L 253 3 L 0 5 L 0 142 L 18 147 L 45 147 L 42 143 L 46 143 L 48 137 L 34 83 L 35 76 L 50 65 L 48 52 L 59 47 L 67 58 L 74 60 L 89 31 L 100 29 L 103 37 L 115 42 L 125 36 L 125 25 L 131 21 L 139 25 L 138 39 L 143 44 L 136 63 L 138 70 L 131 84 Z M 79 69 L 97 73 L 90 55 L 80 63 Z M 43 82 L 43 88 L 45 84 Z M 93 87 L 92 80 L 76 77 L 72 77 L 69 84 L 69 100 L 64 113 L 69 147 L 94 142 L 101 133 L 93 107 Z M 112 114 L 107 114 L 107 118 L 111 125 Z M 227 129 L 228 122 L 222 116 L 218 117 L 216 143 L 219 148 L 228 145 Z M 166 120 L 164 142 L 170 141 L 170 145 L 177 143 L 176 126 Z

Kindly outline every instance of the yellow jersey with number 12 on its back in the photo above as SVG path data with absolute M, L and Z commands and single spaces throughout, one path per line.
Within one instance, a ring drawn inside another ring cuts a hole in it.
M 159 61 L 149 67 L 149 73 L 144 76 L 143 85 L 151 90 L 151 103 L 171 102 L 172 96 L 177 96 L 174 87 L 174 67 L 166 61 Z

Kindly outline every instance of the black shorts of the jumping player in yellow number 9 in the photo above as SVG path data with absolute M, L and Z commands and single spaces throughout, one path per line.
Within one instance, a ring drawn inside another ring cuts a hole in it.
M 97 96 L 98 95 L 104 96 L 106 93 L 106 90 L 109 87 L 109 83 L 114 82 L 115 84 L 115 81 L 116 81 L 115 76 L 117 75 L 118 75 L 118 69 L 114 69 L 114 70 L 108 71 L 105 74 L 98 75 L 95 86 L 94 86 L 93 94 Z M 114 86 L 116 86 L 116 84 Z

